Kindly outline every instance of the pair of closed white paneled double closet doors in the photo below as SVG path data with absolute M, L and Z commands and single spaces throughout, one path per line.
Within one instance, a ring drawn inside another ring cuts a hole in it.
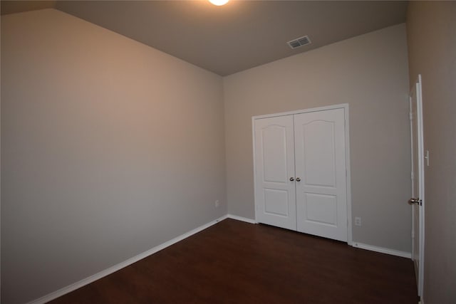
M 253 117 L 257 221 L 348 241 L 345 108 Z

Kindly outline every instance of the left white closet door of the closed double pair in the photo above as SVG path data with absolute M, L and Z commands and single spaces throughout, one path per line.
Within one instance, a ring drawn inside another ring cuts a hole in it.
M 254 137 L 257 221 L 296 230 L 293 115 L 255 120 Z

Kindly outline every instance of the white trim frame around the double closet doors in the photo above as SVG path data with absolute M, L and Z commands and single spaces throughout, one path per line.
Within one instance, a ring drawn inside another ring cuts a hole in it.
M 326 107 L 318 107 L 318 108 L 311 108 L 311 109 L 305 109 L 305 110 L 296 110 L 296 111 L 291 111 L 291 112 L 279 112 L 279 113 L 273 113 L 273 114 L 267 114 L 267 115 L 258 115 L 258 116 L 252 116 L 252 144 L 253 144 L 253 160 L 254 160 L 254 187 L 257 185 L 257 180 L 256 180 L 256 164 L 255 164 L 255 120 L 261 119 L 261 118 L 269 118 L 269 117 L 276 117 L 276 116 L 283 116 L 283 115 L 295 115 L 295 114 L 301 114 L 301 113 L 308 113 L 308 112 L 318 112 L 318 111 L 324 111 L 324 110 L 334 110 L 334 109 L 343 109 L 344 115 L 345 115 L 345 147 L 346 147 L 346 170 L 347 170 L 347 176 L 346 176 L 346 199 L 347 199 L 347 243 L 348 245 L 352 246 L 353 245 L 353 239 L 352 239 L 352 220 L 351 220 L 351 166 L 350 166 L 350 129 L 349 129 L 349 115 L 348 115 L 348 103 L 343 103 L 340 105 L 329 105 Z M 254 201 L 255 201 L 255 221 L 258 223 L 258 208 L 257 206 L 257 198 L 255 197 L 255 191 L 254 191 Z

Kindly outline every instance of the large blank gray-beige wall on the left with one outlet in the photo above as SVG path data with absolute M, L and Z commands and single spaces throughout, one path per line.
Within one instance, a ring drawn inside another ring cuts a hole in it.
M 62 12 L 1 16 L 1 303 L 226 214 L 222 91 Z

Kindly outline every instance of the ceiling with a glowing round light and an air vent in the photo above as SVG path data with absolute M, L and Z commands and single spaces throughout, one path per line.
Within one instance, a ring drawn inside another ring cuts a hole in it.
M 1 1 L 1 14 L 45 8 L 230 75 L 403 23 L 407 1 Z M 310 45 L 286 44 L 305 35 Z

